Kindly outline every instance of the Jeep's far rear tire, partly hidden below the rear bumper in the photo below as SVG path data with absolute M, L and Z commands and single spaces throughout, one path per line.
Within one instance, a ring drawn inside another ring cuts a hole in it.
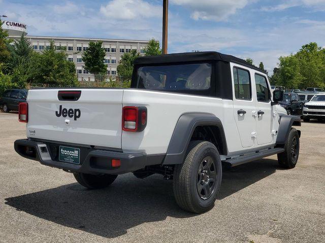
M 91 175 L 85 173 L 73 173 L 77 182 L 89 189 L 100 189 L 108 187 L 110 184 L 114 182 L 117 175 Z

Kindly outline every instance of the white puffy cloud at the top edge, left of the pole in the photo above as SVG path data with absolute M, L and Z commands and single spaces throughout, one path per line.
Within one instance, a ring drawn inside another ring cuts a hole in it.
M 106 6 L 101 6 L 100 11 L 106 17 L 121 20 L 160 18 L 162 15 L 160 5 L 152 5 L 143 0 L 112 0 Z

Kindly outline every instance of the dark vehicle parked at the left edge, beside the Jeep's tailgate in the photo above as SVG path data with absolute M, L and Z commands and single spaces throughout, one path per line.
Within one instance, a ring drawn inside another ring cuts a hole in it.
M 20 102 L 26 102 L 27 90 L 6 90 L 3 97 L 0 98 L 0 105 L 4 112 L 18 110 Z

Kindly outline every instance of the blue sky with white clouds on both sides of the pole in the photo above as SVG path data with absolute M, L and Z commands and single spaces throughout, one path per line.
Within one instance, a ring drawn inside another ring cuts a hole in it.
M 0 0 L 0 15 L 29 35 L 161 42 L 163 0 Z M 169 53 L 219 51 L 263 61 L 317 42 L 325 47 L 325 0 L 169 0 Z

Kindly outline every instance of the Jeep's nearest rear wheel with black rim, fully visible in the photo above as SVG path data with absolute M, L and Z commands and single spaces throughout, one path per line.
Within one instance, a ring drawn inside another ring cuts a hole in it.
M 197 214 L 213 208 L 221 176 L 217 148 L 206 141 L 191 142 L 184 163 L 174 169 L 173 189 L 179 207 Z

